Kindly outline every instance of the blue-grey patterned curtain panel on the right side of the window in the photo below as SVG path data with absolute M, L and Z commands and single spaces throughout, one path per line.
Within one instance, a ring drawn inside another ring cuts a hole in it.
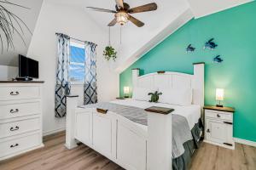
M 85 42 L 84 105 L 97 102 L 96 44 Z

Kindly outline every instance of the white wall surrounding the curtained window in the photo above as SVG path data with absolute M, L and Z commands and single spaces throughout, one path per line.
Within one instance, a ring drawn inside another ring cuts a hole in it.
M 54 133 L 65 127 L 65 118 L 55 118 L 54 110 L 57 59 L 55 32 L 62 32 L 70 37 L 96 42 L 98 44 L 98 99 L 99 101 L 108 101 L 119 94 L 119 75 L 112 71 L 111 65 L 102 57 L 102 50 L 108 42 L 108 35 L 102 31 L 101 27 L 96 26 L 83 10 L 60 4 L 56 5 L 44 0 L 27 53 L 28 57 L 39 61 L 39 77 L 45 81 L 43 99 L 44 134 Z M 73 91 L 81 93 L 82 89 L 73 88 Z

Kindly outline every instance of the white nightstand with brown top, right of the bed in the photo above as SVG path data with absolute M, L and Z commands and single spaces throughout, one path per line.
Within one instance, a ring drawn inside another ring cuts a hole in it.
M 205 140 L 204 142 L 216 144 L 231 150 L 235 149 L 233 139 L 232 107 L 204 106 Z

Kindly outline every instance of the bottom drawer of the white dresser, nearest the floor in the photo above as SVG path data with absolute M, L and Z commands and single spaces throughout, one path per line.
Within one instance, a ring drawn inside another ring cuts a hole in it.
M 27 150 L 40 144 L 40 133 L 0 142 L 0 157 Z

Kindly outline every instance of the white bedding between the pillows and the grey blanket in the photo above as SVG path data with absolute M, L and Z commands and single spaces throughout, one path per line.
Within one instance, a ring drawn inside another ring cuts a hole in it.
M 134 106 L 142 109 L 146 109 L 151 106 L 172 108 L 175 110 L 172 112 L 172 114 L 183 116 L 187 119 L 190 130 L 192 130 L 192 128 L 201 118 L 200 105 L 186 105 L 186 106 L 170 105 L 170 104 L 163 104 L 163 103 L 151 103 L 148 101 L 141 101 L 141 100 L 135 100 L 135 99 L 119 99 L 119 100 L 111 101 L 111 103 L 119 104 L 119 105 L 129 105 L 129 106 Z M 138 126 L 143 127 L 143 125 L 138 125 Z

